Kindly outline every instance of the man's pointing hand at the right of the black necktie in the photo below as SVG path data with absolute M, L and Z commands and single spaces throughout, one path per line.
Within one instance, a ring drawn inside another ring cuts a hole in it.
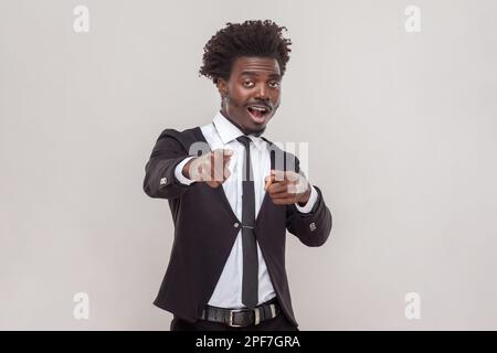
M 272 170 L 265 178 L 264 188 L 276 205 L 298 203 L 305 206 L 310 196 L 310 183 L 294 171 Z

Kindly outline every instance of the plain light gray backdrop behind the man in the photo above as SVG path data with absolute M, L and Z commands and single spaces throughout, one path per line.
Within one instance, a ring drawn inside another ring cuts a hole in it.
M 89 33 L 73 30 L 77 4 Z M 404 10 L 421 9 L 421 33 Z M 293 40 L 266 137 L 309 142 L 329 242 L 288 237 L 303 330 L 496 329 L 497 3 L 0 1 L 0 329 L 168 330 L 172 239 L 141 190 L 165 128 L 211 121 L 198 76 L 224 25 Z M 404 296 L 421 296 L 406 320 Z M 73 317 L 87 292 L 89 319 Z

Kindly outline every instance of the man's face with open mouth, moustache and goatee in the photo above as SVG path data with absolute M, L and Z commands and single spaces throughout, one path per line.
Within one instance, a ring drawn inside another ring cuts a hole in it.
M 239 57 L 232 65 L 230 79 L 218 81 L 224 97 L 221 113 L 244 133 L 262 135 L 279 106 L 281 79 L 277 60 Z

